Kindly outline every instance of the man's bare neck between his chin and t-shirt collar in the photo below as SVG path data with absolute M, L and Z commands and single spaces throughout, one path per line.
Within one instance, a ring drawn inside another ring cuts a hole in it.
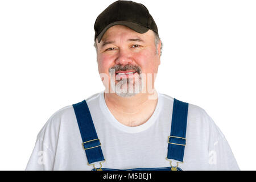
M 132 97 L 121 97 L 115 93 L 104 93 L 105 102 L 117 121 L 126 126 L 139 126 L 147 122 L 158 103 L 157 92 L 139 93 Z M 154 98 L 154 99 L 152 99 Z

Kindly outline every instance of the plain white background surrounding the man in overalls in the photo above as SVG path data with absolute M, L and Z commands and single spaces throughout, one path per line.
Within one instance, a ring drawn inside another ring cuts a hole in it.
M 0 1 L 0 169 L 24 170 L 47 119 L 104 90 L 93 47 L 114 1 Z M 255 170 L 255 1 L 136 1 L 158 25 L 156 90 L 202 107 Z

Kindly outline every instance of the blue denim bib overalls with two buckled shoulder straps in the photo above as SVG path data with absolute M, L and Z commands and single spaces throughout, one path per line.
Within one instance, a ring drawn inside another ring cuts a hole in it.
M 94 162 L 104 162 L 104 156 L 101 150 L 100 139 L 98 139 L 92 116 L 86 101 L 73 104 L 75 110 L 77 123 L 82 138 L 82 148 L 85 150 L 85 154 L 89 165 Z M 159 168 L 134 168 L 134 169 L 110 169 L 110 168 L 96 168 L 92 171 L 182 171 L 178 167 L 179 163 L 183 163 L 183 156 L 186 143 L 186 130 L 187 130 L 187 117 L 188 117 L 188 103 L 181 102 L 174 98 L 174 107 L 172 110 L 172 123 L 171 123 L 171 135 L 168 136 L 168 153 L 167 160 L 174 159 L 179 161 L 177 166 L 174 167 L 171 164 L 170 167 Z M 101 163 L 100 163 L 101 164 Z M 102 166 L 102 165 L 101 165 Z

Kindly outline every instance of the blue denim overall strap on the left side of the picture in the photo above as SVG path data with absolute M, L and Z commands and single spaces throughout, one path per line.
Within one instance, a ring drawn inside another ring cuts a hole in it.
M 88 163 L 105 160 L 101 150 L 100 139 L 98 139 L 86 101 L 73 104 L 73 108 L 82 137 L 82 147 L 85 150 Z

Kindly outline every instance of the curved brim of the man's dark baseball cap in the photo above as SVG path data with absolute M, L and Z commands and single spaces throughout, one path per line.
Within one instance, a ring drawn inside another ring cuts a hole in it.
M 126 26 L 126 27 L 129 27 L 131 28 L 132 30 L 134 30 L 135 32 L 138 32 L 139 34 L 144 34 L 146 33 L 149 28 L 147 27 L 144 27 L 144 26 L 141 26 L 140 24 L 137 24 L 137 23 L 133 23 L 133 22 L 126 22 L 126 21 L 118 21 L 118 22 L 113 22 L 113 23 L 110 23 L 108 26 L 106 26 L 101 32 L 100 34 L 97 36 L 98 38 L 98 43 L 101 42 L 101 39 L 102 39 L 102 36 L 105 34 L 105 32 L 112 26 L 114 25 L 123 25 L 123 26 Z

